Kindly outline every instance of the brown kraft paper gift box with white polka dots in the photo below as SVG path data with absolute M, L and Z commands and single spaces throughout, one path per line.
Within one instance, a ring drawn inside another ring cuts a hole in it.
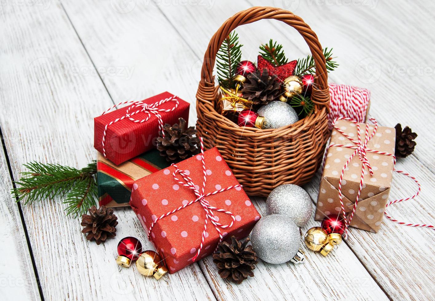
M 364 144 L 366 126 L 368 126 L 368 137 L 371 136 L 375 127 L 364 123 L 359 123 L 359 126 L 361 142 Z M 344 132 L 347 137 L 338 129 Z M 330 145 L 343 146 L 330 146 L 328 149 L 316 206 L 316 220 L 322 220 L 327 215 L 341 212 L 338 193 L 340 175 L 345 163 L 355 152 L 355 147 L 359 147 L 349 138 L 358 142 L 357 125 L 347 120 L 338 120 L 331 132 Z M 378 232 L 393 178 L 395 129 L 378 126 L 375 134 L 368 140 L 365 149 L 367 150 L 365 156 L 373 174 L 371 175 L 368 166 L 365 166 L 363 172 L 364 184 L 350 226 L 370 232 Z M 349 219 L 356 201 L 361 181 L 361 171 L 362 161 L 359 155 L 356 154 L 345 168 L 341 181 L 341 193 L 347 219 Z

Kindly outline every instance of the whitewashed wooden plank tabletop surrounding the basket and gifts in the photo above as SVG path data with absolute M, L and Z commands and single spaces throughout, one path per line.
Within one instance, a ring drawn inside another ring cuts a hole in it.
M 9 5 L 3 9 L 5 18 L 0 22 L 4 22 L 2 28 L 6 31 L 0 36 L 4 45 L 0 56 L 4 60 L 0 95 L 2 112 L 6 113 L 0 117 L 0 126 L 15 177 L 20 165 L 30 159 L 73 166 L 85 165 L 93 159 L 92 117 L 111 105 L 110 97 L 117 103 L 169 90 L 194 103 L 202 56 L 214 31 L 239 10 L 271 5 L 293 9 L 315 30 L 323 46 L 335 48 L 341 66 L 332 73 L 331 81 L 369 88 L 371 115 L 382 125 L 402 122 L 418 132 L 415 155 L 398 165 L 418 177 L 422 195 L 418 202 L 398 204 L 389 212 L 406 221 L 435 221 L 434 205 L 430 202 L 435 178 L 434 128 L 426 122 L 434 113 L 431 104 L 434 91 L 428 89 L 433 83 L 434 66 L 432 73 L 427 70 L 422 75 L 412 74 L 419 66 L 433 63 L 433 39 L 428 39 L 427 23 L 433 23 L 430 11 L 434 3 L 121 2 L 63 1 L 62 6 L 54 1 L 48 7 Z M 290 58 L 308 51 L 298 33 L 277 21 L 243 26 L 238 32 L 245 44 L 245 59 L 255 60 L 258 44 L 269 38 L 283 43 Z M 361 73 L 361 68 L 371 73 Z M 45 76 L 44 70 L 48 71 Z M 23 106 L 29 111 L 18 112 L 17 108 Z M 404 110 L 410 106 L 415 113 Z M 45 122 L 47 119 L 51 123 Z M 195 120 L 196 112 L 191 106 L 189 123 L 194 124 Z M 77 132 L 70 130 L 74 125 Z M 67 151 L 68 146 L 74 147 L 73 156 Z M 318 181 L 317 175 L 305 186 L 314 200 Z M 395 176 L 391 198 L 410 194 L 413 189 L 411 181 Z M 260 198 L 253 201 L 264 213 L 263 201 Z M 43 293 L 49 299 L 435 298 L 434 280 L 430 277 L 435 271 L 431 230 L 389 221 L 378 234 L 352 229 L 347 243 L 328 258 L 307 251 L 304 266 L 260 263 L 256 276 L 242 285 L 219 279 L 211 258 L 204 259 L 199 267 L 192 265 L 165 282 L 157 282 L 132 268 L 117 272 L 113 265 L 117 239 L 104 246 L 88 245 L 79 233 L 77 220 L 63 216 L 60 200 L 43 202 L 44 205 L 24 208 L 24 217 Z M 133 235 L 145 244 L 143 230 L 132 212 L 121 209 L 116 213 L 120 220 L 119 238 Z M 310 221 L 303 230 L 313 225 L 318 222 Z M 58 251 L 60 244 L 64 256 Z M 69 266 L 62 261 L 66 255 Z M 25 269 L 21 268 L 21 273 L 26 273 Z M 107 275 L 111 275 L 110 280 Z

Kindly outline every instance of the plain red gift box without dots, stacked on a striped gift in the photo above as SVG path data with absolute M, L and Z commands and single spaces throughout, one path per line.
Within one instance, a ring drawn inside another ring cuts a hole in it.
M 174 95 L 169 92 L 164 92 L 142 101 L 147 104 L 152 104 L 161 99 L 167 99 L 172 96 Z M 159 112 L 163 124 L 168 123 L 173 125 L 178 123 L 178 118 L 180 117 L 184 118 L 184 120 L 189 119 L 190 104 L 179 97 L 176 97 L 176 99 L 178 99 L 179 102 L 177 109 L 174 109 L 174 111 L 171 112 Z M 125 116 L 127 108 L 131 105 L 94 118 L 94 148 L 97 149 L 97 151 L 103 153 L 103 145 L 101 142 L 103 140 L 104 128 L 106 125 L 117 118 Z M 174 105 L 174 101 L 168 101 L 158 106 L 158 109 L 172 109 Z M 138 108 L 134 108 L 131 112 L 134 112 L 137 109 Z M 135 114 L 134 118 L 144 119 L 147 116 L 147 113 L 140 112 Z M 151 114 L 151 118 L 146 122 L 133 122 L 127 118 L 114 122 L 107 127 L 104 143 L 106 157 L 116 165 L 119 165 L 152 148 L 155 148 L 155 138 L 158 136 L 159 122 L 154 114 Z

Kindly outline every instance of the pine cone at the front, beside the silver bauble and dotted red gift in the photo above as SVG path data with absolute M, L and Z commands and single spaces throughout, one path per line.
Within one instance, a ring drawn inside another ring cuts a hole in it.
M 246 238 L 241 244 L 234 236 L 231 236 L 231 244 L 224 241 L 218 248 L 219 253 L 213 254 L 213 262 L 218 267 L 221 278 L 227 278 L 237 284 L 248 278 L 254 277 L 255 265 L 258 264 L 257 254 L 255 254 L 250 241 Z

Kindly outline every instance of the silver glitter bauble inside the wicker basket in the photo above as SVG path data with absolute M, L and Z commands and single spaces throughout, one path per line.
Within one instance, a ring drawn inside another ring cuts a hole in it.
M 288 104 L 282 101 L 271 101 L 257 111 L 259 116 L 264 117 L 269 129 L 278 129 L 288 126 L 299 120 L 298 113 Z

